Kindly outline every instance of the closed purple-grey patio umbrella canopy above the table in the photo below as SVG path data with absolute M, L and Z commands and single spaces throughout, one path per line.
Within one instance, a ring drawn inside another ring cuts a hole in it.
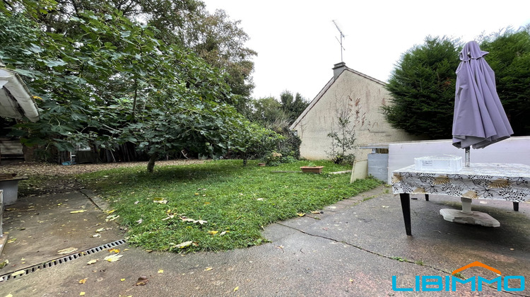
M 475 41 L 466 43 L 460 52 L 453 116 L 453 145 L 457 148 L 485 148 L 514 133 L 497 95 L 495 73 L 485 62 L 486 54 Z

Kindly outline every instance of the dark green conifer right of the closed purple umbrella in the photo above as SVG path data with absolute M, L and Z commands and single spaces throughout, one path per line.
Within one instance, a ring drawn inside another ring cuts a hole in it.
M 495 71 L 497 93 L 515 136 L 530 135 L 530 25 L 504 30 L 481 42 Z

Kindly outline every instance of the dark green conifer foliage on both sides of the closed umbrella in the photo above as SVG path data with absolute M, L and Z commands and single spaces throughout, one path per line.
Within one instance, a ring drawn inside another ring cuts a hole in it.
M 481 49 L 489 52 L 485 59 L 495 71 L 514 136 L 530 135 L 530 25 L 489 35 Z M 394 100 L 383 107 L 392 127 L 430 139 L 451 138 L 460 50 L 459 40 L 427 37 L 401 57 L 386 86 Z

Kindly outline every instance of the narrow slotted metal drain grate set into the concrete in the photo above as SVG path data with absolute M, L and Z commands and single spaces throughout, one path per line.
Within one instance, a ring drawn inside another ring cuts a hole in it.
M 76 252 L 75 254 L 67 255 L 64 257 L 59 257 L 54 260 L 49 260 L 47 262 L 43 262 L 41 264 L 33 265 L 24 269 L 20 269 L 16 272 L 8 272 L 6 274 L 0 275 L 0 282 L 2 281 L 8 281 L 9 279 L 17 279 L 20 276 L 25 276 L 26 274 L 30 274 L 31 272 L 36 272 L 40 269 L 45 269 L 49 267 L 54 267 L 58 264 L 63 264 L 66 262 L 69 262 L 71 260 L 76 260 L 78 257 L 83 257 L 86 255 L 91 255 L 95 252 L 100 252 L 101 250 L 105 250 L 107 248 L 114 248 L 117 245 L 122 245 L 126 243 L 124 239 L 116 240 L 112 243 L 105 243 L 105 245 L 100 245 L 95 248 L 89 248 L 88 250 L 82 250 L 81 252 Z

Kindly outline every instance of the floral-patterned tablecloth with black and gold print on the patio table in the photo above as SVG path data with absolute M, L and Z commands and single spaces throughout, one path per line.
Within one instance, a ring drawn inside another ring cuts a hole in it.
M 530 166 L 471 163 L 459 171 L 416 170 L 415 165 L 392 172 L 394 194 L 439 194 L 471 199 L 530 199 Z

